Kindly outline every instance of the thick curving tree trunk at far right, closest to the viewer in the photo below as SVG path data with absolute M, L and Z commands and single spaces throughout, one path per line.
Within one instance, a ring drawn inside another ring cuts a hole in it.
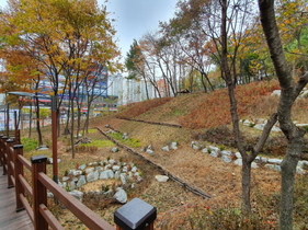
M 282 88 L 277 118 L 287 139 L 287 150 L 282 162 L 282 192 L 280 208 L 280 229 L 293 229 L 294 181 L 298 160 L 301 156 L 305 130 L 292 120 L 292 105 L 308 82 L 308 72 L 299 76 L 296 83 L 290 64 L 286 60 L 275 19 L 274 0 L 259 0 L 260 16 L 267 41 L 271 58 Z

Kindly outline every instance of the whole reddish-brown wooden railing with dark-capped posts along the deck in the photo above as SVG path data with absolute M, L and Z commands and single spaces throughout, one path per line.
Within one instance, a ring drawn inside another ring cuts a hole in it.
M 64 229 L 47 207 L 48 189 L 54 194 L 56 200 L 65 205 L 88 228 L 94 230 L 115 230 L 113 226 L 48 177 L 46 175 L 46 161 L 47 158 L 45 156 L 36 156 L 32 157 L 30 162 L 23 157 L 22 145 L 19 142 L 15 145 L 13 138 L 0 135 L 0 165 L 3 166 L 3 174 L 8 175 L 8 188 L 15 187 L 15 210 L 21 211 L 25 209 L 35 230 L 47 230 L 48 227 L 58 230 Z M 24 168 L 31 171 L 32 186 L 24 177 Z M 26 197 L 32 200 L 32 205 Z M 156 216 L 157 210 L 155 207 L 135 198 L 115 211 L 114 222 L 116 223 L 116 230 L 152 230 Z

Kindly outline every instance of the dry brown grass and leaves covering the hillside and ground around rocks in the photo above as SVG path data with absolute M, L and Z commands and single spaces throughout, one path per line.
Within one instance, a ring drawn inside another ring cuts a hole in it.
M 265 82 L 240 89 L 238 93 L 240 118 L 267 118 L 277 103 L 277 99 L 269 94 L 276 88 L 275 82 Z M 202 198 L 194 195 L 172 181 L 158 183 L 155 180 L 155 175 L 161 173 L 158 169 L 123 149 L 119 152 L 112 153 L 112 146 L 100 148 L 96 152 L 78 152 L 76 159 L 71 159 L 70 153 L 66 152 L 68 139 L 65 137 L 59 141 L 59 157 L 62 159 L 62 163 L 59 164 L 59 174 L 61 176 L 66 170 L 77 168 L 81 163 L 106 160 L 107 158 L 137 163 L 142 169 L 145 180 L 135 189 L 129 191 L 128 196 L 129 199 L 139 197 L 157 207 L 156 229 L 191 229 L 187 216 L 195 214 L 196 210 L 208 210 L 210 214 L 212 208 L 240 207 L 241 168 L 233 163 L 225 163 L 220 159 L 212 158 L 208 153 L 193 150 L 190 147 L 191 141 L 195 140 L 198 134 L 205 133 L 213 126 L 226 125 L 230 127 L 228 99 L 225 94 L 226 92 L 193 93 L 162 100 L 161 102 L 156 100 L 153 104 L 151 104 L 151 101 L 141 102 L 124 107 L 119 113 L 96 117 L 91 122 L 92 127 L 107 131 L 109 128 L 105 128 L 105 125 L 110 125 L 114 129 L 127 133 L 129 137 L 138 139 L 141 147 L 135 148 L 135 151 L 163 166 L 187 184 L 210 194 L 212 198 Z M 294 119 L 308 123 L 306 110 L 303 110 L 307 107 L 307 99 L 298 100 L 294 105 Z M 181 124 L 183 128 L 129 122 L 117 119 L 116 116 Z M 258 137 L 260 135 L 259 130 L 251 127 L 242 126 L 241 128 L 247 136 Z M 88 136 L 93 139 L 105 139 L 100 133 L 89 134 Z M 272 136 L 276 136 L 276 134 L 272 134 Z M 171 141 L 176 141 L 179 149 L 169 152 L 162 151 L 161 148 Z M 213 145 L 205 140 L 199 140 L 199 142 L 204 146 Z M 153 148 L 153 154 L 141 150 L 149 145 Z M 224 146 L 224 148 L 232 152 L 237 151 L 228 146 Z M 46 154 L 49 153 L 46 152 Z M 260 197 L 271 197 L 278 194 L 280 180 L 280 173 L 264 169 L 262 165 L 260 165 L 260 169 L 252 170 L 253 209 L 260 211 L 258 205 Z M 87 205 L 104 219 L 113 222 L 113 212 L 121 205 L 103 204 L 103 202 L 91 203 L 88 200 Z M 277 211 L 273 211 L 273 207 L 277 208 L 277 206 L 272 205 L 269 209 L 261 211 L 264 219 L 269 221 L 269 226 L 270 223 L 276 223 Z M 64 215 L 62 211 L 59 212 L 59 217 L 68 229 L 84 229 L 72 216 Z M 272 229 L 275 229 L 275 227 Z

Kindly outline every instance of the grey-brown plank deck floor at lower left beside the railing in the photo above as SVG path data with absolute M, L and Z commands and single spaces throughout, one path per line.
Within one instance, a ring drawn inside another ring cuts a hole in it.
M 0 166 L 0 229 L 33 230 L 33 223 L 25 210 L 15 211 L 15 189 L 8 188 L 8 176 Z

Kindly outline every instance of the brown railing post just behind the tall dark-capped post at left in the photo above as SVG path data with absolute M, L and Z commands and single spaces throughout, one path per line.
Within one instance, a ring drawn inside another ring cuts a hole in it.
M 23 164 L 22 162 L 19 161 L 18 157 L 23 156 L 23 145 L 15 145 L 13 146 L 13 148 L 14 148 L 13 162 L 15 165 L 14 177 L 15 177 L 16 211 L 21 211 L 24 209 L 20 197 L 20 194 L 24 195 L 24 187 L 20 181 L 20 175 L 23 176 Z

